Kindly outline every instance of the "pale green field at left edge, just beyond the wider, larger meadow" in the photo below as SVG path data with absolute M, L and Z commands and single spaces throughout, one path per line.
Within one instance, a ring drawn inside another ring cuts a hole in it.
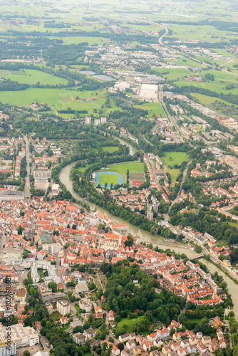
M 40 83 L 41 85 L 57 85 L 67 84 L 68 80 L 51 75 L 41 70 L 34 69 L 20 69 L 20 70 L 0 70 L 0 76 L 7 79 L 14 80 L 18 83 L 34 85 Z

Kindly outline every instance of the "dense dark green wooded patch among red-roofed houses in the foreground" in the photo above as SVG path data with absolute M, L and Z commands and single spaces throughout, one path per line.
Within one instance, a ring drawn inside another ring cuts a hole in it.
M 168 290 L 162 289 L 160 293 L 155 288 L 157 276 L 148 276 L 138 264 L 129 266 L 128 261 L 116 264 L 103 263 L 100 266 L 108 279 L 105 291 L 105 309 L 113 310 L 115 320 L 144 316 L 142 321 L 135 325 L 137 333 L 150 330 L 155 320 L 170 325 L 172 319 L 177 320 L 180 310 L 185 306 L 185 299 L 179 298 Z M 138 281 L 134 283 L 133 281 Z M 123 333 L 124 330 L 120 330 Z

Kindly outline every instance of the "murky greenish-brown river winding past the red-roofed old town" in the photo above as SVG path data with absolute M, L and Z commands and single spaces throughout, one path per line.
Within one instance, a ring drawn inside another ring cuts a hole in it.
M 123 145 L 128 145 L 130 148 L 130 154 L 133 155 L 133 153 L 135 152 L 135 147 L 129 145 L 127 142 L 125 142 L 123 140 L 120 140 L 120 142 Z M 61 182 L 66 186 L 68 191 L 71 192 L 73 197 L 75 197 L 78 200 L 82 200 L 82 198 L 76 192 L 73 191 L 72 183 L 69 179 L 69 174 L 70 174 L 71 168 L 74 166 L 74 164 L 75 163 L 71 163 L 71 164 L 68 164 L 68 166 L 64 167 L 62 169 L 59 177 L 60 177 Z M 115 223 L 117 223 L 117 224 L 125 224 L 126 223 L 128 226 L 128 232 L 130 234 L 132 234 L 133 236 L 135 236 L 138 239 L 138 241 L 145 241 L 147 244 L 150 244 L 150 243 L 156 244 L 159 248 L 163 248 L 163 249 L 171 248 L 172 250 L 174 250 L 177 253 L 185 253 L 185 255 L 187 257 L 194 256 L 194 253 L 192 251 L 190 251 L 184 244 L 174 241 L 174 240 L 165 240 L 165 239 L 160 238 L 159 236 L 149 234 L 148 232 L 139 229 L 137 226 L 129 224 L 128 221 L 124 221 L 123 219 L 120 219 L 117 216 L 110 214 L 105 209 L 100 208 L 100 206 L 96 206 L 95 204 L 92 204 L 89 201 L 86 201 L 86 202 L 90 206 L 91 211 L 98 210 L 102 214 L 107 215 L 112 221 L 115 221 Z M 215 271 L 217 271 L 219 273 L 219 275 L 224 278 L 224 281 L 227 282 L 229 293 L 232 295 L 232 301 L 234 303 L 234 307 L 233 307 L 234 314 L 235 314 L 236 319 L 238 320 L 238 298 L 237 298 L 238 285 L 236 283 L 234 283 L 234 281 L 232 281 L 232 279 L 230 279 L 224 272 L 222 272 L 219 268 L 217 268 L 217 266 L 214 266 L 213 263 L 210 263 L 209 261 L 205 260 L 205 258 L 202 258 L 201 261 L 202 261 L 202 263 L 204 263 L 207 266 L 207 268 L 209 268 L 209 271 L 211 271 L 211 273 L 214 273 Z

